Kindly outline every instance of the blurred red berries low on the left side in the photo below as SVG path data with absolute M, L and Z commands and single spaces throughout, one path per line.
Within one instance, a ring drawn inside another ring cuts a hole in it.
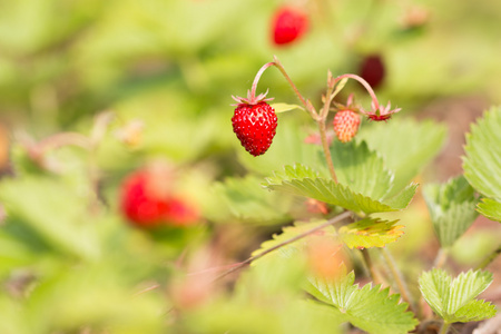
M 155 175 L 158 177 L 158 175 Z M 198 213 L 185 200 L 161 191 L 155 191 L 155 183 L 147 171 L 140 170 L 126 178 L 121 186 L 120 209 L 127 219 L 144 228 L 161 225 L 184 226 L 198 219 Z

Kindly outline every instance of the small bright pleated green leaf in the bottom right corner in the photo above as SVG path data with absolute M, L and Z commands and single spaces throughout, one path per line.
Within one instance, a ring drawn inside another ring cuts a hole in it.
M 470 271 L 452 279 L 444 271 L 433 269 L 423 273 L 419 283 L 421 293 L 433 312 L 445 322 L 454 323 L 494 316 L 495 308 L 492 304 L 474 301 L 492 279 L 489 272 Z

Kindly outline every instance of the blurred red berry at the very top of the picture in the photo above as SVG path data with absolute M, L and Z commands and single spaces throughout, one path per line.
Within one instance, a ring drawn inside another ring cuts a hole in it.
M 288 45 L 302 37 L 308 26 L 308 16 L 302 9 L 279 8 L 273 18 L 273 41 L 277 46 Z

